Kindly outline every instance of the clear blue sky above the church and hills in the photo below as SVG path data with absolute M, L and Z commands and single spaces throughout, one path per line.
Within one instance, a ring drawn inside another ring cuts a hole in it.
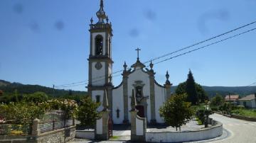
M 99 4 L 100 0 L 1 0 L 0 79 L 43 86 L 87 80 L 88 29 L 91 17 L 97 21 Z M 137 47 L 145 62 L 255 21 L 255 7 L 255 0 L 105 0 L 114 34 L 113 71 L 122 69 L 124 61 L 129 66 L 136 62 Z M 233 34 L 250 28 L 256 24 Z M 191 69 L 201 85 L 247 86 L 256 81 L 255 39 L 252 31 L 156 64 L 156 81 L 164 84 L 168 70 L 171 83 L 177 85 Z M 121 79 L 114 77 L 114 85 Z M 86 90 L 85 85 L 65 89 Z

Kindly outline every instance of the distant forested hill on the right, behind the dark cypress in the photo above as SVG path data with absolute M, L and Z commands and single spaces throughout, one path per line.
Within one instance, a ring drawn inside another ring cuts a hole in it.
M 219 93 L 222 96 L 231 94 L 238 94 L 240 96 L 247 96 L 251 93 L 256 93 L 256 86 L 202 86 L 203 89 L 206 91 L 209 98 L 212 98 Z M 175 92 L 177 86 L 171 87 L 171 92 Z

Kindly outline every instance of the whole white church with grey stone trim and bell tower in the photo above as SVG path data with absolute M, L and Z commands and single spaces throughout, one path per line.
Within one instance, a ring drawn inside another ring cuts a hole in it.
M 146 118 L 148 123 L 162 123 L 159 108 L 171 96 L 171 82 L 168 71 L 164 85 L 155 79 L 154 64 L 145 65 L 137 60 L 131 67 L 124 62 L 122 82 L 118 86 L 112 84 L 112 24 L 109 23 L 100 0 L 100 10 L 97 11 L 97 22 L 90 20 L 90 53 L 89 53 L 89 83 L 87 91 L 93 101 L 103 103 L 103 96 L 107 94 L 108 108 L 114 124 L 130 122 L 131 96 L 135 93 L 138 115 Z M 147 68 L 149 67 L 149 68 Z M 98 108 L 102 110 L 102 105 Z

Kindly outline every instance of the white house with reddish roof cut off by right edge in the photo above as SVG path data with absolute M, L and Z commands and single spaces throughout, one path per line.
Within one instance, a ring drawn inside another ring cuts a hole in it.
M 244 105 L 245 108 L 256 108 L 256 93 L 240 98 L 239 104 Z

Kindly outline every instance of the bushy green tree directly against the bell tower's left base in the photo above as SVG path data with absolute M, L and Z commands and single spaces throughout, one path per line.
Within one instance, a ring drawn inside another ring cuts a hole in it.
M 96 118 L 100 117 L 99 113 L 97 113 L 97 108 L 99 106 L 100 103 L 95 103 L 89 96 L 82 98 L 77 113 L 78 120 L 80 120 L 80 125 L 86 127 L 95 125 Z

